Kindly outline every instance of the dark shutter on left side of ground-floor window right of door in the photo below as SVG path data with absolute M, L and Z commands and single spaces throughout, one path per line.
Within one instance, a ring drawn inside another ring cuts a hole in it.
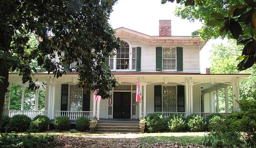
M 162 112 L 162 85 L 155 85 L 155 112 Z

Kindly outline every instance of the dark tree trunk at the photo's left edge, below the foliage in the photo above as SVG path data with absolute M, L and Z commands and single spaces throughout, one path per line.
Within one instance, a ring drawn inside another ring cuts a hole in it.
M 0 82 L 0 129 L 2 126 L 2 115 L 4 110 L 4 100 L 5 100 L 5 94 L 8 91 L 8 78 L 9 78 L 9 69 L 6 70 L 0 70 L 0 76 L 4 77 L 3 83 Z

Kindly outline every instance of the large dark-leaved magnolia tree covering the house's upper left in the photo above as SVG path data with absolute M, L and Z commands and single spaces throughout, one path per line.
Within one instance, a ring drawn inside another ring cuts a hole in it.
M 108 24 L 116 0 L 1 0 L 0 1 L 0 126 L 8 74 L 19 72 L 29 89 L 37 89 L 33 62 L 54 77 L 71 63 L 79 73 L 78 86 L 110 96 L 116 79 L 106 65 L 111 50 L 121 46 Z M 37 36 L 38 45 L 29 40 Z M 40 38 L 40 39 L 39 39 Z M 55 61 L 58 57 L 59 62 Z

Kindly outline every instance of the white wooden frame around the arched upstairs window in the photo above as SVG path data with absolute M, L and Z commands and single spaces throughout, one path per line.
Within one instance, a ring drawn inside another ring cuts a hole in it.
M 136 71 L 136 66 L 135 69 L 132 69 L 132 48 L 135 48 L 135 65 L 137 65 L 137 60 L 136 60 L 136 55 L 137 55 L 137 50 L 136 47 L 137 46 L 132 46 L 131 42 L 125 39 L 121 39 L 124 42 L 126 42 L 129 45 L 129 69 L 116 69 L 116 55 L 113 56 L 113 58 L 110 58 L 109 56 L 109 63 L 108 65 L 110 66 L 110 59 L 113 59 L 113 69 L 111 69 L 112 71 Z M 114 51 L 114 53 L 116 53 L 116 51 Z

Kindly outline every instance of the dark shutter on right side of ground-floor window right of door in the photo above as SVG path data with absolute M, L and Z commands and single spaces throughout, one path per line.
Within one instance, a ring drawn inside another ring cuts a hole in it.
M 185 86 L 184 85 L 178 85 L 177 86 L 177 112 L 185 112 Z

